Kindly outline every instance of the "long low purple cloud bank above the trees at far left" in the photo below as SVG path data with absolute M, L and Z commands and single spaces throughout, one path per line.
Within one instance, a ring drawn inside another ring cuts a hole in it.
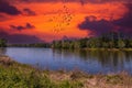
M 30 43 L 43 43 L 36 36 L 25 34 L 8 34 L 4 31 L 0 31 L 0 38 L 6 38 L 10 44 L 30 44 Z

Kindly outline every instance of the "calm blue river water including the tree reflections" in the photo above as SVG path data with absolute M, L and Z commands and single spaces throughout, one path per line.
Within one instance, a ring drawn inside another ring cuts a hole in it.
M 86 73 L 132 74 L 132 52 L 66 51 L 52 48 L 8 47 L 0 51 L 16 62 L 45 69 L 81 69 Z

